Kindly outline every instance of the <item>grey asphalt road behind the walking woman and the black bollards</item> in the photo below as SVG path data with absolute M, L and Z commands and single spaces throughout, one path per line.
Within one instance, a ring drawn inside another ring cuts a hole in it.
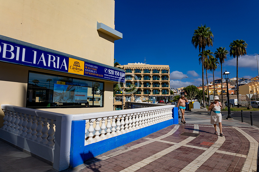
M 256 127 L 259 127 L 259 111 L 251 111 L 253 112 L 253 125 Z M 186 111 L 185 113 L 192 113 L 192 114 L 203 114 L 210 116 L 210 112 L 190 112 Z M 233 119 L 242 121 L 241 120 L 241 112 L 240 111 L 233 111 L 231 112 L 231 115 Z M 228 117 L 228 111 L 222 111 L 222 118 L 225 119 Z M 251 124 L 251 118 L 250 118 L 250 111 L 243 111 L 243 121 L 245 123 Z

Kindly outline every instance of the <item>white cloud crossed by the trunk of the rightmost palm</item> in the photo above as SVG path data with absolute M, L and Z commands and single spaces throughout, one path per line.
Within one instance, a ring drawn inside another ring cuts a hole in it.
M 237 59 L 232 58 L 225 61 L 225 65 L 237 66 Z M 243 68 L 257 68 L 256 55 L 245 55 L 238 58 L 238 67 Z

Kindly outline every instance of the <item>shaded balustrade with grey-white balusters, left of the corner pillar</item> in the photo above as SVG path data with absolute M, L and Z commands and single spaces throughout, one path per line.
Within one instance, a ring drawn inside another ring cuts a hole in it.
M 1 106 L 4 112 L 4 126 L 1 128 L 17 136 L 34 141 L 45 146 L 54 146 L 54 124 L 56 117 L 51 119 L 41 117 L 39 110 L 11 105 Z M 9 110 L 11 109 L 11 110 Z M 28 112 L 26 110 L 28 109 Z M 44 112 L 44 111 L 42 111 Z

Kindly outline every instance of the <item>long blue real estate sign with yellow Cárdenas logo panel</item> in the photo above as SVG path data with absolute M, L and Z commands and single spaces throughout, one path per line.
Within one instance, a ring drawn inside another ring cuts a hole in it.
M 123 70 L 90 63 L 84 58 L 71 58 L 2 39 L 0 39 L 0 61 L 104 80 L 120 82 L 125 80 Z

